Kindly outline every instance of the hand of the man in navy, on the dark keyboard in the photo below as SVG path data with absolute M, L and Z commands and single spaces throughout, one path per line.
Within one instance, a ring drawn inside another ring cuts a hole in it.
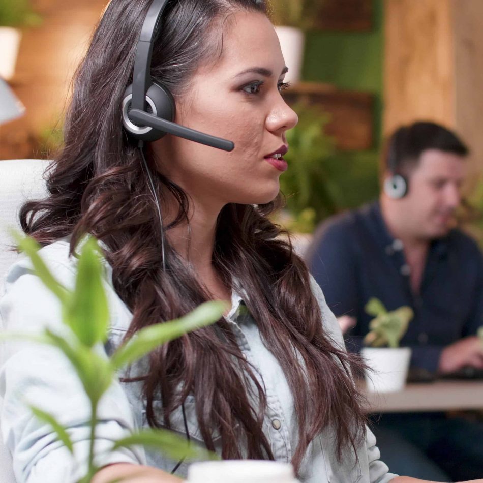
M 464 366 L 483 369 L 483 346 L 476 336 L 465 337 L 441 352 L 438 367 L 440 373 L 458 371 Z

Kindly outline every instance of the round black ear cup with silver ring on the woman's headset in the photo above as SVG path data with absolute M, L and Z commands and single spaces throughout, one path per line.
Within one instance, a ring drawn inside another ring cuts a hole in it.
M 133 86 L 129 85 L 123 96 L 123 125 L 126 131 L 134 138 L 143 141 L 156 141 L 166 133 L 149 126 L 140 126 L 129 117 L 131 110 Z M 174 98 L 166 87 L 153 83 L 147 89 L 145 111 L 156 117 L 161 117 L 169 121 L 174 120 L 176 106 Z

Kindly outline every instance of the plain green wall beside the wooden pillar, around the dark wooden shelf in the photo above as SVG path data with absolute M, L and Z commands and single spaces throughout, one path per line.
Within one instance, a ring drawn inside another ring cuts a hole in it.
M 341 209 L 374 199 L 378 193 L 378 159 L 382 138 L 383 0 L 373 0 L 373 28 L 369 32 L 307 34 L 302 78 L 328 82 L 341 89 L 364 90 L 375 96 L 374 144 L 366 151 L 338 153 L 344 164 L 331 180 L 339 187 Z

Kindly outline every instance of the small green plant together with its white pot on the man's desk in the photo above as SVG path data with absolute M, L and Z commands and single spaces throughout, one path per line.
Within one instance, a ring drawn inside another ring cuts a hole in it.
M 399 391 L 406 384 L 411 359 L 411 349 L 399 343 L 414 312 L 407 306 L 388 312 L 377 298 L 371 298 L 365 310 L 374 316 L 361 352 L 370 368 L 365 374 L 367 388 L 380 393 Z

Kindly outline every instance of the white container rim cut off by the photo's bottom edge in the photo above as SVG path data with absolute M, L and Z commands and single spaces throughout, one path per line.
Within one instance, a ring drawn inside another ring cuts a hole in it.
M 297 483 L 289 463 L 225 460 L 193 463 L 187 483 Z

